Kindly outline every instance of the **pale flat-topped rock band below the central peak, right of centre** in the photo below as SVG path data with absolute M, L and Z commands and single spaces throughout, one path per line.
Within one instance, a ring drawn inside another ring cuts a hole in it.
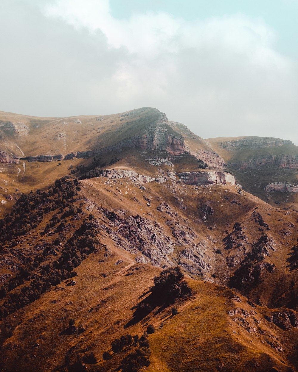
M 236 185 L 235 177 L 222 171 L 183 172 L 178 176 L 180 176 L 180 182 L 187 185 L 215 185 L 216 183 L 226 185 L 227 182 Z

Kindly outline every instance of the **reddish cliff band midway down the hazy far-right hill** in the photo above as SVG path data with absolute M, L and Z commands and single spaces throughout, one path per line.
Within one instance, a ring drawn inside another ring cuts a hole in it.
M 252 158 L 247 161 L 229 163 L 229 166 L 235 169 L 254 169 L 254 168 L 298 168 L 298 155 L 268 155 L 266 157 Z

